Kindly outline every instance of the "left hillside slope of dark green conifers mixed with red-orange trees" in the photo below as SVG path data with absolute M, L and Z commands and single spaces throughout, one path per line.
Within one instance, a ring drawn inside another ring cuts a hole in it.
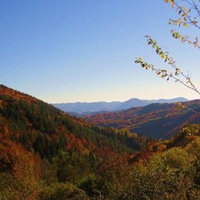
M 0 85 L 0 134 L 47 159 L 60 150 L 109 157 L 140 146 L 136 139 L 129 138 L 129 132 L 123 136 L 124 132 L 116 129 L 91 126 L 83 119 L 3 85 Z M 126 144 L 126 140 L 132 142 Z

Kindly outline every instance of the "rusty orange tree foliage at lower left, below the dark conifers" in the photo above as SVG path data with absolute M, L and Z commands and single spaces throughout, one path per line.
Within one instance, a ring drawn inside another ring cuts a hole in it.
M 39 195 L 40 158 L 26 151 L 21 145 L 0 135 L 0 172 L 13 177 L 10 193 L 16 200 L 35 200 Z

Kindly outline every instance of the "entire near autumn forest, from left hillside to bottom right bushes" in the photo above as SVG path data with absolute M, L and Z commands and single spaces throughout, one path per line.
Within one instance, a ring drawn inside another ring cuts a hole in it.
M 199 199 L 200 125 L 150 140 L 0 86 L 0 199 Z

